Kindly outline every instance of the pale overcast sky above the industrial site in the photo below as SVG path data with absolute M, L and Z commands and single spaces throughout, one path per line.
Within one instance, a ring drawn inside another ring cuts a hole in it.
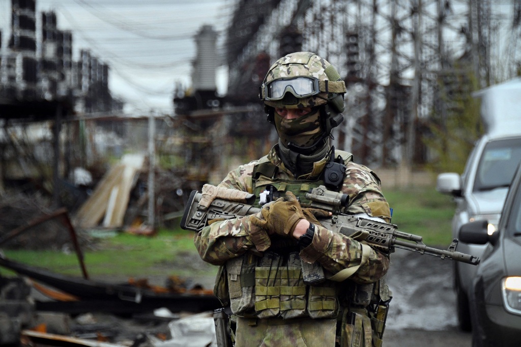
M 133 114 L 172 113 L 173 86 L 191 85 L 193 36 L 204 24 L 224 40 L 234 0 L 36 0 L 36 28 L 42 11 L 55 11 L 58 29 L 72 31 L 73 59 L 80 49 L 109 65 L 109 88 Z M 0 0 L 3 47 L 10 32 L 11 0 Z M 37 33 L 39 35 L 39 33 Z M 226 91 L 226 70 L 218 71 Z

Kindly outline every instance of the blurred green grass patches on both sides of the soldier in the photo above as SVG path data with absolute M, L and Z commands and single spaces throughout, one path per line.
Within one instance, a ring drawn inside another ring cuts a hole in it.
M 402 232 L 424 238 L 425 244 L 446 248 L 452 241 L 454 203 L 434 188 L 384 191 L 393 208 L 392 224 Z M 96 250 L 84 250 L 91 277 L 212 276 L 217 267 L 203 263 L 193 245 L 193 233 L 180 228 L 160 230 L 154 237 L 118 233 L 99 241 Z M 81 276 L 75 253 L 4 250 L 9 259 L 59 274 Z M 2 273 L 4 270 L 2 269 Z

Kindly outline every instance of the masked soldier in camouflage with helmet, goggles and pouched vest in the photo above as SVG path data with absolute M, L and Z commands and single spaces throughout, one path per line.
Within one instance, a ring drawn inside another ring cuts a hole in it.
M 264 196 L 275 201 L 195 235 L 201 258 L 220 266 L 214 291 L 231 311 L 236 347 L 382 344 L 389 256 L 322 227 L 328 213 L 301 206 L 309 189 L 326 185 L 349 196 L 343 213 L 390 222 L 376 174 L 330 144 L 345 92 L 316 54 L 278 59 L 259 95 L 278 144 L 219 184 L 255 194 L 257 207 Z

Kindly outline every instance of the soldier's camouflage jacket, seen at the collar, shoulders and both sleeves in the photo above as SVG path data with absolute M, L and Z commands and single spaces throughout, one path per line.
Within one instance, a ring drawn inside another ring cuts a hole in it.
M 314 164 L 314 169 L 308 175 L 293 177 L 284 167 L 277 148 L 278 145 L 275 145 L 264 158 L 277 166 L 277 179 L 314 180 L 320 176 L 327 163 L 327 158 L 322 159 Z M 366 213 L 389 222 L 390 209 L 381 192 L 378 177 L 367 167 L 354 163 L 351 154 L 342 153 L 346 175 L 341 191 L 349 195 L 350 201 L 345 213 Z M 255 160 L 230 171 L 219 186 L 252 193 L 252 172 L 257 163 L 258 160 Z M 270 238 L 265 230 L 251 225 L 243 218 L 235 218 L 205 227 L 195 234 L 194 244 L 205 262 L 221 265 L 246 252 L 262 255 L 270 245 Z M 345 268 L 361 265 L 362 245 L 349 237 L 316 226 L 313 242 L 300 251 L 300 257 L 308 263 L 317 261 L 324 269 L 336 274 Z M 368 262 L 360 266 L 350 279 L 356 283 L 373 283 L 386 274 L 388 267 L 389 257 L 371 249 Z

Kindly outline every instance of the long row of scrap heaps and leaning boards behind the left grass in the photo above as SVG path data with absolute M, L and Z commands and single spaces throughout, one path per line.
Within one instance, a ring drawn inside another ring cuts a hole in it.
M 148 172 L 143 155 L 126 155 L 104 175 L 96 172 L 91 186 L 61 182 L 61 199 L 68 209 L 82 247 L 94 247 L 95 229 L 121 230 L 152 236 L 157 227 L 177 227 L 185 200 L 201 182 L 184 179 L 185 173 L 156 168 L 154 172 L 155 225 L 148 226 Z M 76 172 L 76 171 L 75 171 Z M 84 173 L 85 174 L 85 173 Z M 85 181 L 82 181 L 86 183 Z M 80 189 L 81 188 L 81 189 Z M 82 194 L 79 193 L 81 190 Z M 71 199 L 74 196 L 74 199 Z M 0 200 L 0 240 L 8 232 L 27 225 L 34 218 L 53 213 L 47 190 L 30 184 L 23 189 L 10 189 Z M 59 218 L 31 227 L 1 245 L 7 249 L 71 250 L 70 237 Z

